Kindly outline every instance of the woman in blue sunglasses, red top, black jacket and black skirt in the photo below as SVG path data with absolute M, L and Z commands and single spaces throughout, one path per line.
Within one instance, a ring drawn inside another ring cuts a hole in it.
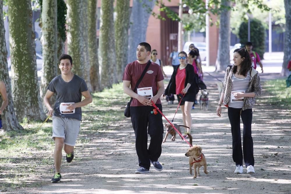
M 187 53 L 184 51 L 179 52 L 178 59 L 180 65 L 174 68 L 170 82 L 165 89 L 163 97 L 167 94 L 177 94 L 178 102 L 182 111 L 183 124 L 187 128 L 187 132 L 191 133 L 192 117 L 191 109 L 195 101 L 196 94 L 199 91 L 198 76 L 195 76 L 194 67 L 187 63 Z M 197 91 L 198 89 L 198 91 Z M 184 95 L 184 97 L 183 97 Z M 184 136 L 188 137 L 187 135 Z

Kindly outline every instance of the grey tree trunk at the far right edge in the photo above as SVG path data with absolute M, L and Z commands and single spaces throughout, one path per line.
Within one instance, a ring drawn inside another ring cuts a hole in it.
M 285 36 L 284 36 L 284 58 L 282 64 L 282 76 L 288 76 L 290 74 L 287 69 L 288 62 L 291 60 L 291 2 L 290 0 L 284 0 L 285 7 Z

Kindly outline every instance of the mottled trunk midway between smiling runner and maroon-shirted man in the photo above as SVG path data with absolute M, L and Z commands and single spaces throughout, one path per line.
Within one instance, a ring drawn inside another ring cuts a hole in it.
M 99 37 L 101 88 L 111 88 L 112 84 L 117 82 L 113 23 L 113 0 L 101 1 Z

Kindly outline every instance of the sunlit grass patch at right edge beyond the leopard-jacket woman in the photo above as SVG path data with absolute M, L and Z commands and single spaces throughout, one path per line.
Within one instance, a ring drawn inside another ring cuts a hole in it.
M 268 103 L 286 108 L 291 107 L 291 87 L 286 87 L 285 79 L 268 80 L 263 83 L 263 89 L 270 94 Z

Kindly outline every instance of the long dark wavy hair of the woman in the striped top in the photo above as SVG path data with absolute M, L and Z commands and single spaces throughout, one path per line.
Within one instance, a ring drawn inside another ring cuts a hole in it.
M 252 61 L 249 52 L 245 48 L 238 48 L 233 51 L 233 53 L 237 52 L 242 58 L 244 57 L 244 60 L 240 64 L 240 69 L 238 74 L 246 76 L 248 73 L 248 70 L 250 70 L 252 66 Z M 233 73 L 237 72 L 237 66 L 233 67 Z

